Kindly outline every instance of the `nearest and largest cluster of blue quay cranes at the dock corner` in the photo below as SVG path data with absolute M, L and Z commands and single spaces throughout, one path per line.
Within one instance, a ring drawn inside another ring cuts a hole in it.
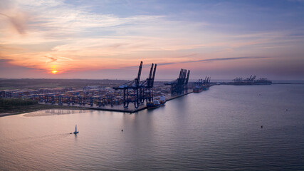
M 154 66 L 154 68 L 153 68 Z M 114 90 L 123 90 L 123 105 L 124 108 L 129 108 L 129 103 L 134 103 L 135 109 L 139 108 L 140 104 L 153 101 L 153 85 L 157 64 L 152 63 L 150 68 L 149 78 L 145 81 L 140 81 L 142 73 L 142 61 L 138 69 L 137 78 L 122 86 L 113 87 Z

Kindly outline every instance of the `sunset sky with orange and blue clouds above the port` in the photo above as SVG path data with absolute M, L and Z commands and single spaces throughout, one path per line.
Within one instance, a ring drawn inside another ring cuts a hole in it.
M 0 78 L 304 80 L 304 0 L 0 0 Z

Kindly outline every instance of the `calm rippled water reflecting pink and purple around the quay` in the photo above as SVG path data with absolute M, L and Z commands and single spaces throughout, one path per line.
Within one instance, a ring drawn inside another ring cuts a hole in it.
M 304 170 L 304 86 L 213 86 L 134 114 L 3 117 L 0 170 Z

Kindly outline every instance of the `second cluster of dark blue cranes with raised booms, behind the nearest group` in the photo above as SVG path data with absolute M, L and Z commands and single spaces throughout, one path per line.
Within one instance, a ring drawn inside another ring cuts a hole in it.
M 190 70 L 181 69 L 179 72 L 179 78 L 169 83 L 164 83 L 166 86 L 170 86 L 171 95 L 182 95 L 188 90 L 188 81 L 190 76 Z

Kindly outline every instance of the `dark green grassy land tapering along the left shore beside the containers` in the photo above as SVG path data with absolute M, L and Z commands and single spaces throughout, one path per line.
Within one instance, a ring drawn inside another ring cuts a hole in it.
M 61 105 L 41 105 L 33 100 L 23 100 L 19 98 L 4 99 L 0 98 L 0 117 L 6 115 L 17 115 L 21 113 L 30 113 L 46 109 L 79 109 L 73 106 Z

